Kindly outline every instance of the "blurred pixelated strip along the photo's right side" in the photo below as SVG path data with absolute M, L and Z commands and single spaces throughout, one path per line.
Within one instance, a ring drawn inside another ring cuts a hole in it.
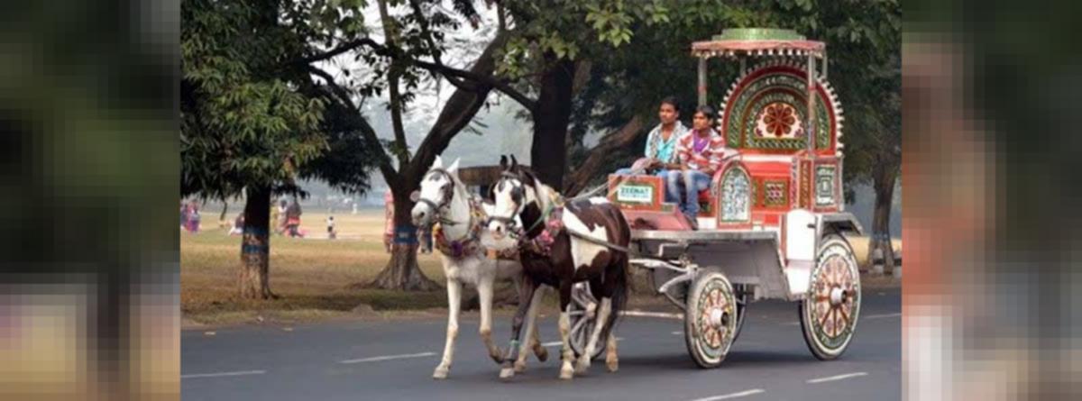
M 906 398 L 1080 399 L 1082 9 L 903 10 Z

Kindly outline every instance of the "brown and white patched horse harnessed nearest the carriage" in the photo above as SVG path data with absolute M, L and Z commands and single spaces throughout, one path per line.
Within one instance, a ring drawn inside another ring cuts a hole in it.
M 610 372 L 618 369 L 616 335 L 612 325 L 626 302 L 628 254 L 613 250 L 604 243 L 619 245 L 626 250 L 631 241 L 631 229 L 619 208 L 605 198 L 591 198 L 562 203 L 559 195 L 526 168 L 518 165 L 512 157 L 504 168 L 501 179 L 492 187 L 496 205 L 489 214 L 489 231 L 492 237 L 522 230 L 518 241 L 519 259 L 523 264 L 524 288 L 519 290 L 518 312 L 512 322 L 511 349 L 504 359 L 501 377 L 514 374 L 510 364 L 516 360 L 517 343 L 523 320 L 528 312 L 532 294 L 541 284 L 551 285 L 559 293 L 559 336 L 563 342 L 563 365 L 559 377 L 571 378 L 576 373 L 585 373 L 590 367 L 598 339 L 606 340 L 606 365 Z M 518 217 L 522 227 L 517 226 Z M 589 239 L 583 239 L 589 237 Z M 597 321 L 585 350 L 572 367 L 575 352 L 570 346 L 571 289 L 577 282 L 589 282 L 595 296 L 601 298 Z

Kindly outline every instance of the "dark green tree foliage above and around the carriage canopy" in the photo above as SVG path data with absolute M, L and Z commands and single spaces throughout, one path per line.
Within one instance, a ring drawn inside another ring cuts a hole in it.
M 588 132 L 615 130 L 634 116 L 652 128 L 657 103 L 664 96 L 679 99 L 685 110 L 681 117 L 688 122 L 697 85 L 691 42 L 738 27 L 789 28 L 827 42 L 829 81 L 846 111 L 847 185 L 870 179 L 876 162 L 900 162 L 901 11 L 897 0 L 656 0 L 634 6 L 621 1 L 573 5 L 556 1 L 546 3 L 544 12 L 540 6 L 511 3 L 516 5 L 512 8 L 516 24 L 525 22 L 525 31 L 506 46 L 502 71 L 529 76 L 543 65 L 529 57 L 545 51 L 568 57 L 555 51 L 552 37 L 578 38 L 571 42 L 577 56 L 591 64 L 592 78 L 575 99 L 571 164 L 589 155 L 582 143 Z M 625 28 L 630 29 L 628 41 Z M 749 62 L 752 66 L 756 61 Z M 710 63 L 708 104 L 722 102 L 737 66 Z M 612 168 L 625 165 L 639 149 L 635 144 L 608 160 Z

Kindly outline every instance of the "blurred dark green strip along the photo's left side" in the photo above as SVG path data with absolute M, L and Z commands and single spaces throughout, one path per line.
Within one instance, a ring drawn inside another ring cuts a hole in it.
M 0 3 L 0 399 L 180 398 L 179 6 Z

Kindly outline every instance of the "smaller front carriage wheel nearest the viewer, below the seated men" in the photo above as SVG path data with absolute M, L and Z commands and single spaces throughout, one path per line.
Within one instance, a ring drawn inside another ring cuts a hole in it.
M 737 317 L 737 299 L 725 275 L 709 271 L 691 283 L 684 339 L 695 363 L 701 367 L 722 364 L 736 337 Z

